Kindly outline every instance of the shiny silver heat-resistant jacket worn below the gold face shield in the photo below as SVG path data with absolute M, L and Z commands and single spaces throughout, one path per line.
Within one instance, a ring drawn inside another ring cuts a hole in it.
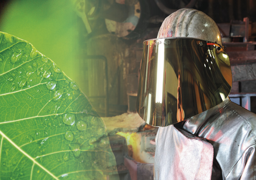
M 154 179 L 256 180 L 256 115 L 230 101 L 156 136 Z

